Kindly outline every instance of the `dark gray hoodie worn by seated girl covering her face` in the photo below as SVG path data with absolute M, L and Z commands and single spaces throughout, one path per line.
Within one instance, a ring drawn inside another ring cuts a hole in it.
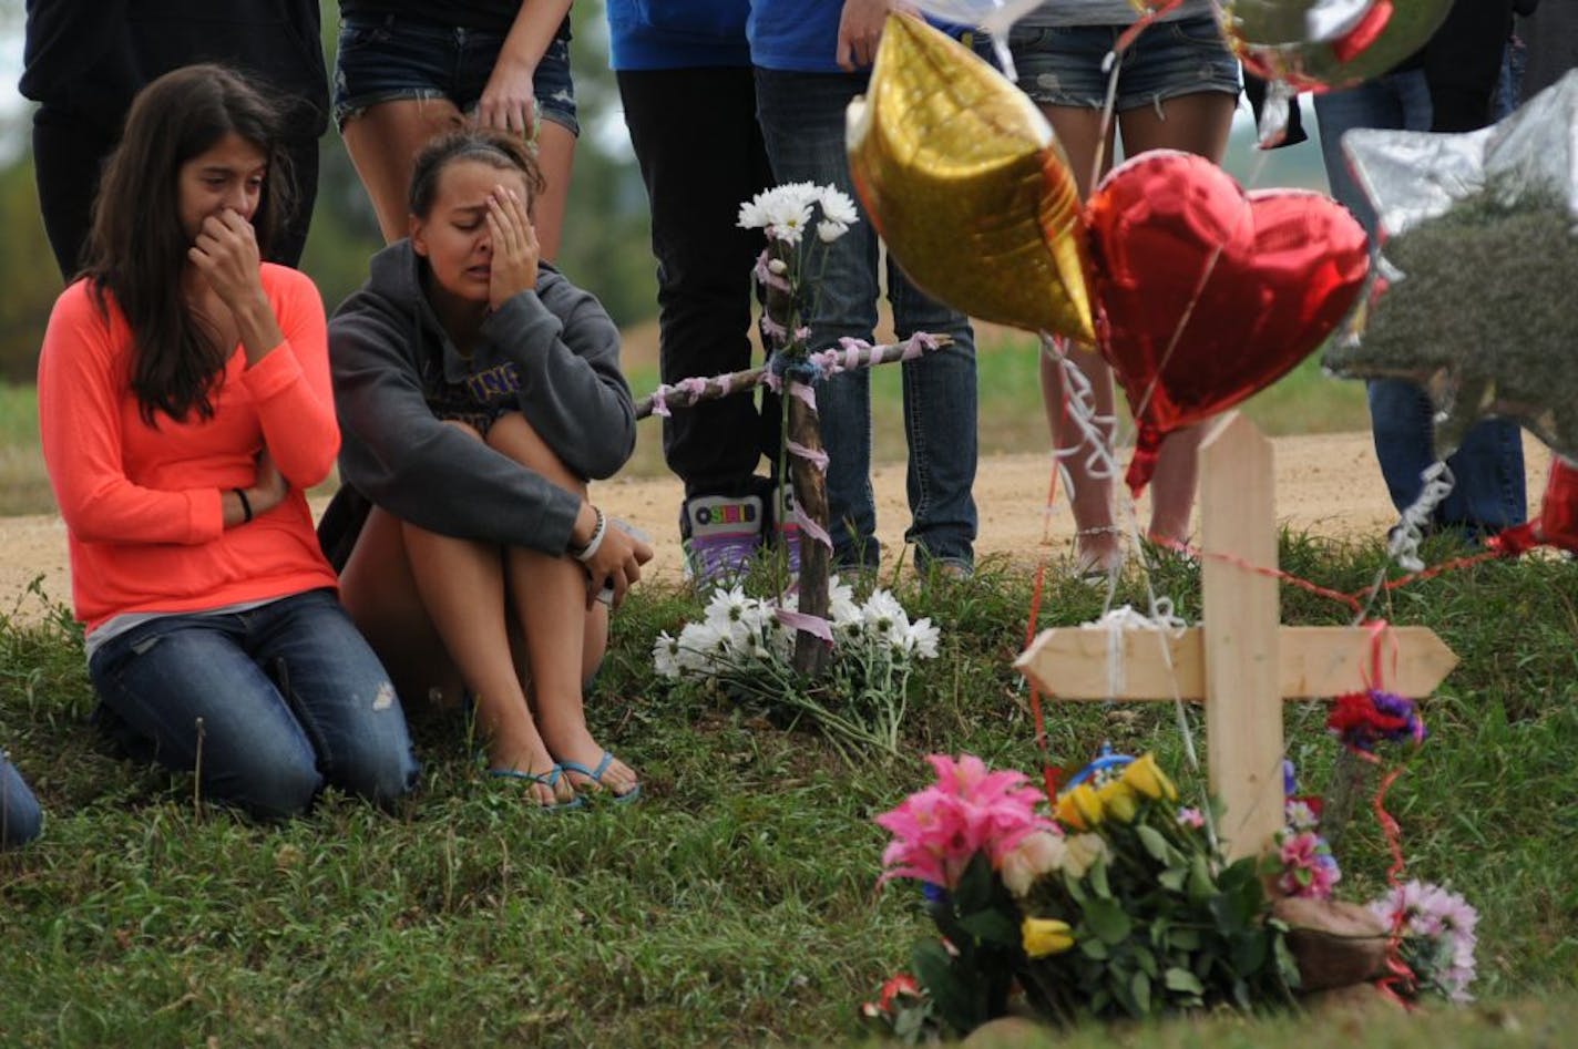
M 344 566 L 371 500 L 440 535 L 563 554 L 579 497 L 436 412 L 519 410 L 571 470 L 611 476 L 636 446 L 619 330 L 543 265 L 537 289 L 500 306 L 466 360 L 428 303 L 421 265 L 410 241 L 390 245 L 328 323 L 344 487 L 319 524 L 323 549 Z

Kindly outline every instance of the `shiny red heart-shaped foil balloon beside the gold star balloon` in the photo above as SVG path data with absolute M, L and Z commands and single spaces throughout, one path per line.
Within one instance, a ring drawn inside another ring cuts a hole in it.
M 1090 196 L 1097 339 L 1135 413 L 1128 486 L 1161 440 L 1264 390 L 1352 308 L 1370 271 L 1365 232 L 1303 189 L 1245 194 L 1206 158 L 1141 153 Z

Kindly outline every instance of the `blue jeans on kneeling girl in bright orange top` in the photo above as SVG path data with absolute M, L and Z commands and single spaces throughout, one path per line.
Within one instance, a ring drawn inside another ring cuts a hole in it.
M 252 816 L 303 812 L 325 782 L 379 803 L 417 784 L 394 686 L 328 590 L 159 617 L 88 672 L 110 735 Z

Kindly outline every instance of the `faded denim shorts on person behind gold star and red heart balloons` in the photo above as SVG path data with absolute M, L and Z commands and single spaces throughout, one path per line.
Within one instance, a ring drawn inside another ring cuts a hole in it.
M 1060 25 L 1008 30 L 1019 87 L 1038 106 L 1101 109 L 1108 73 L 1101 60 L 1127 25 Z M 1124 52 L 1117 110 L 1158 106 L 1199 91 L 1239 93 L 1239 62 L 1213 17 L 1157 22 Z

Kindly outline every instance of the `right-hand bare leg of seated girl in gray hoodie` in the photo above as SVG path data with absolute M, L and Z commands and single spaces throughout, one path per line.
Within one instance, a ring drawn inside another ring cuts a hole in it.
M 488 443 L 559 487 L 585 497 L 585 481 L 565 467 L 522 415 L 511 412 L 494 423 Z M 537 727 L 557 760 L 596 768 L 603 746 L 587 729 L 582 685 L 608 645 L 608 609 L 598 601 L 585 610 L 587 573 L 573 557 L 510 547 L 505 562 L 510 599 L 525 633 Z M 578 787 L 590 786 L 587 776 L 570 775 Z M 614 793 L 626 793 L 636 784 L 636 773 L 620 760 L 611 762 L 603 773 L 603 786 Z

